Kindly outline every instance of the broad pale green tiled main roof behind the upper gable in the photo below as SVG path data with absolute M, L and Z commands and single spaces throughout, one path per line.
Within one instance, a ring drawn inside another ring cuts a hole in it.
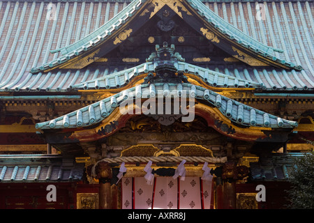
M 68 49 L 65 47 L 82 43 L 80 40 L 84 36 L 97 30 L 128 6 L 128 3 L 122 2 L 59 1 L 56 8 L 57 20 L 47 20 L 47 4 L 48 2 L 39 1 L 0 1 L 0 91 L 70 91 L 75 85 L 117 70 L 110 66 L 99 66 L 98 69 L 32 74 L 31 68 L 61 56 L 60 52 L 51 54 L 51 49 L 63 49 L 64 52 Z M 313 90 L 313 2 L 264 2 L 264 6 L 267 6 L 264 8 L 267 20 L 255 19 L 256 4 L 257 2 L 207 2 L 204 6 L 262 45 L 283 49 L 283 54 L 276 51 L 272 54 L 276 59 L 301 65 L 304 70 L 259 69 L 249 66 L 209 69 L 248 82 L 263 83 L 266 91 Z M 78 19 L 75 20 L 75 17 Z M 219 24 L 223 22 L 219 20 Z M 112 26 L 110 23 L 107 25 Z

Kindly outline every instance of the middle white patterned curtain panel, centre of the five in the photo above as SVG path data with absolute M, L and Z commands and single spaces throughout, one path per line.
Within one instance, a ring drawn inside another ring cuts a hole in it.
M 178 208 L 178 180 L 172 177 L 156 177 L 153 209 Z

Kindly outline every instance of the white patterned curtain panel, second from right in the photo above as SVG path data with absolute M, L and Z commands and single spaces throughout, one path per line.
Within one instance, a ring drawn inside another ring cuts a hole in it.
M 179 209 L 202 209 L 199 177 L 179 180 Z

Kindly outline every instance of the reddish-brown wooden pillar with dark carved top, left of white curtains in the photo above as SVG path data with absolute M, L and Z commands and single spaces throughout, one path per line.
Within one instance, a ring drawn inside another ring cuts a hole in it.
M 112 169 L 108 162 L 101 161 L 95 167 L 96 178 L 99 180 L 99 209 L 112 208 L 112 191 L 110 180 Z

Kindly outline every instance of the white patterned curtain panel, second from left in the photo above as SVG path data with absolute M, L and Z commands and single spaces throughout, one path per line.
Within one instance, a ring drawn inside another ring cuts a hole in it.
M 144 177 L 134 178 L 134 208 L 150 209 L 153 203 L 154 182 L 148 185 Z

